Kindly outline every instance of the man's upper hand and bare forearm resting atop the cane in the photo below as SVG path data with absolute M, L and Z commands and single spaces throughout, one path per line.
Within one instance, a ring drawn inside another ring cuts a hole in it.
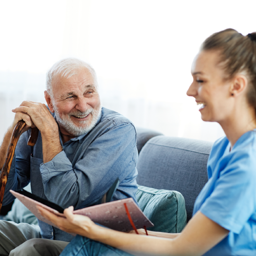
M 13 109 L 12 112 L 16 113 L 13 122 L 14 126 L 19 120 L 26 122 L 22 132 L 35 126 L 41 132 L 44 163 L 51 161 L 62 151 L 62 146 L 59 141 L 58 125 L 45 104 L 23 101 L 22 104 L 20 104 L 18 108 Z

